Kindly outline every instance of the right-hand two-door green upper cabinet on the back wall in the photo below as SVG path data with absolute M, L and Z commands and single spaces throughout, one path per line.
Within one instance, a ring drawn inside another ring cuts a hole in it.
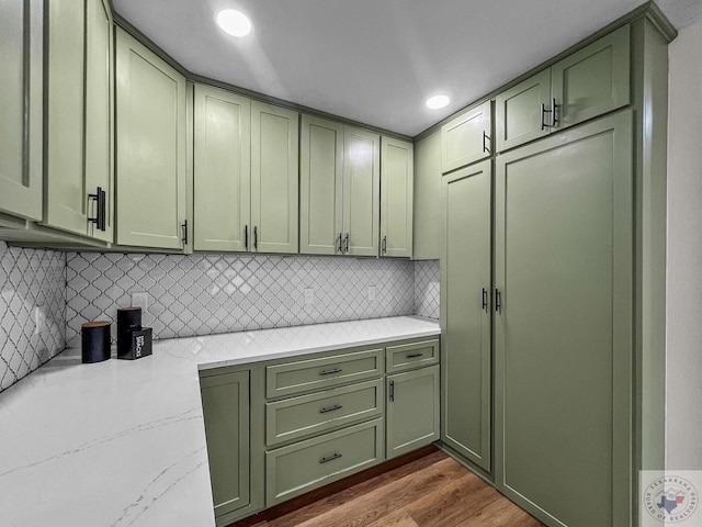
M 378 134 L 303 115 L 301 253 L 377 256 Z

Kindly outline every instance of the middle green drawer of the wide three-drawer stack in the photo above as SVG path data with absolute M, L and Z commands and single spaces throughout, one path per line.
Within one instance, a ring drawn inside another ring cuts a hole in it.
M 265 444 L 301 439 L 382 414 L 382 379 L 265 403 Z

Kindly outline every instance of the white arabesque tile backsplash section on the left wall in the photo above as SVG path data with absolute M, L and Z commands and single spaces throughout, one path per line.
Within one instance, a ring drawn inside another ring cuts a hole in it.
M 0 391 L 66 347 L 66 256 L 0 242 Z

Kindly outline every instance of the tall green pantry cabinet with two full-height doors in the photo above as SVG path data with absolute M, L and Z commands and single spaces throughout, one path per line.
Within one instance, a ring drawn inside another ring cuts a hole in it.
M 548 526 L 638 525 L 665 466 L 673 36 L 646 5 L 508 86 L 494 158 L 442 178 L 442 442 Z M 568 97 L 510 106 L 543 71 Z

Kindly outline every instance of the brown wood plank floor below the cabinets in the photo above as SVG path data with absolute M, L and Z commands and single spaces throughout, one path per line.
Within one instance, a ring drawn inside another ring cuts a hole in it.
M 544 527 L 441 451 L 256 527 Z

